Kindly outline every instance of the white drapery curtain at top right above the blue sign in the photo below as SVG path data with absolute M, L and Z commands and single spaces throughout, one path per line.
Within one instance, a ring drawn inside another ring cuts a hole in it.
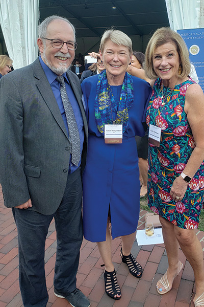
M 204 0 L 166 0 L 170 28 L 195 29 L 204 26 Z

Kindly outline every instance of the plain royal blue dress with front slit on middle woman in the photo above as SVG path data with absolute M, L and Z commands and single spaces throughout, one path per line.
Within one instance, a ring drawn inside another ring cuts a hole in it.
M 133 78 L 134 102 L 129 109 L 129 123 L 122 144 L 105 144 L 95 120 L 98 75 L 82 82 L 83 99 L 89 126 L 87 162 L 83 174 L 83 229 L 91 242 L 106 240 L 110 207 L 112 238 L 136 231 L 139 219 L 140 181 L 135 136 L 143 136 L 150 85 Z M 111 86 L 118 101 L 121 86 Z M 116 114 L 113 111 L 113 119 Z

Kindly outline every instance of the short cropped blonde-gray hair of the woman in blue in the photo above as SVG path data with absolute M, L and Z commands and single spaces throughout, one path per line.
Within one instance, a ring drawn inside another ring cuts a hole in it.
M 115 29 L 106 30 L 100 40 L 101 53 L 104 52 L 104 48 L 108 40 L 111 40 L 118 46 L 125 46 L 129 50 L 130 55 L 133 54 L 132 40 L 124 32 Z

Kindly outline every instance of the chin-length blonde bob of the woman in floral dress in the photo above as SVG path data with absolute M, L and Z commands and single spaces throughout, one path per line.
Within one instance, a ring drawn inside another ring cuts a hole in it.
M 171 30 L 170 28 L 163 27 L 157 29 L 156 32 L 150 38 L 146 52 L 145 52 L 145 73 L 148 78 L 156 79 L 158 75 L 155 73 L 153 67 L 153 56 L 155 50 L 164 45 L 164 43 L 172 42 L 174 43 L 177 53 L 179 53 L 180 64 L 182 67 L 182 73 L 179 75 L 177 74 L 178 78 L 187 77 L 191 71 L 191 64 L 189 60 L 189 52 L 186 46 L 185 41 L 181 37 L 180 34 L 176 33 L 175 31 Z

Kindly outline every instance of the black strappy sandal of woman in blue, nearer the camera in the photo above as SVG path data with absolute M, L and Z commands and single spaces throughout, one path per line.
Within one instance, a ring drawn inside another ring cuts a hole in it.
M 108 296 L 114 299 L 121 298 L 121 291 L 118 285 L 117 277 L 115 270 L 113 272 L 104 272 L 104 280 L 105 280 L 105 290 Z

